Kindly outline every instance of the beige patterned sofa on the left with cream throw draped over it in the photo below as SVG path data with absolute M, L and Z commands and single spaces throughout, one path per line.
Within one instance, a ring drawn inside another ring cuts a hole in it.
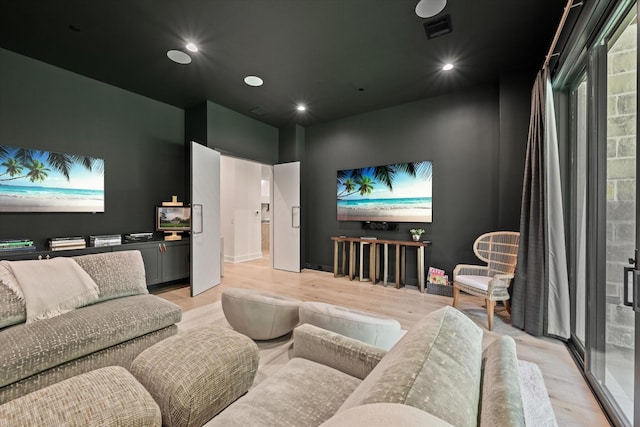
M 97 368 L 129 368 L 140 352 L 177 332 L 182 311 L 148 294 L 139 251 L 73 259 L 97 285 L 97 299 L 31 323 L 15 283 L 6 283 L 15 279 L 11 266 L 0 264 L 0 403 Z

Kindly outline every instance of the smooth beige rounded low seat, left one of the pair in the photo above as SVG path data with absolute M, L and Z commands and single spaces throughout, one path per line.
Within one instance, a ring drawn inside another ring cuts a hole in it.
M 254 340 L 288 334 L 298 325 L 297 299 L 243 288 L 222 291 L 222 311 L 236 331 Z

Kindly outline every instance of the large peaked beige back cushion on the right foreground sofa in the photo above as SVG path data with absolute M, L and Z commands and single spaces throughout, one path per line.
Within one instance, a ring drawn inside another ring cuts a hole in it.
M 476 426 L 482 329 L 453 307 L 420 320 L 341 406 L 402 403 L 456 426 Z

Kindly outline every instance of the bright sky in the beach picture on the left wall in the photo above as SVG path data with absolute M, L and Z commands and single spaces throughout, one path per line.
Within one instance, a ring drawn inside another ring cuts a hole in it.
M 13 147 L 9 147 L 13 148 Z M 43 182 L 36 181 L 31 182 L 28 177 L 13 179 L 10 181 L 4 181 L 6 176 L 0 176 L 0 184 L 4 185 L 20 185 L 20 186 L 37 186 L 48 188 L 67 188 L 67 189 L 83 189 L 83 190 L 102 190 L 104 189 L 104 175 L 99 172 L 91 172 L 80 164 L 74 164 L 69 172 L 69 180 L 64 175 L 52 168 L 47 162 L 47 151 L 37 151 L 34 155 L 34 159 L 45 164 L 48 176 Z M 1 159 L 0 163 L 3 163 L 6 159 Z M 6 167 L 0 166 L 0 173 L 4 173 Z M 104 170 L 104 168 L 103 168 Z M 28 168 L 22 170 L 22 175 L 26 175 L 29 172 Z

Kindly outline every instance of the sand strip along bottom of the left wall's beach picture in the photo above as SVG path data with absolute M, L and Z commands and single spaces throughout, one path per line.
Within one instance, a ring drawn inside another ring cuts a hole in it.
M 0 195 L 0 212 L 104 212 L 104 201 Z

